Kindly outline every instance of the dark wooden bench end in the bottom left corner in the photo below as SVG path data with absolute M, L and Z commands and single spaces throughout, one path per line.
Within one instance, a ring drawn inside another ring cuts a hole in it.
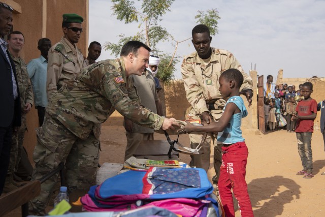
M 31 181 L 0 197 L 0 216 L 21 206 L 21 215 L 28 215 L 28 202 L 41 193 L 41 182 Z

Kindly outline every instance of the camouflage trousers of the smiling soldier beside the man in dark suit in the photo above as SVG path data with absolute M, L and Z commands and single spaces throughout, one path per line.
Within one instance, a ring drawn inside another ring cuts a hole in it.
M 17 132 L 12 134 L 12 145 L 10 150 L 10 160 L 7 174 L 13 174 L 17 171 L 19 161 L 21 159 L 22 145 L 26 132 L 26 114 L 21 114 L 21 126 L 17 128 Z

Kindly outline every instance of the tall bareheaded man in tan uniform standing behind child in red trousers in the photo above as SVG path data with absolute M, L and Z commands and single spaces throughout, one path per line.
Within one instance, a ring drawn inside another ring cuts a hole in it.
M 234 68 L 243 73 L 244 82 L 241 86 L 241 94 L 246 95 L 251 103 L 252 80 L 244 73 L 241 65 L 234 55 L 227 51 L 210 47 L 212 37 L 206 25 L 199 24 L 192 29 L 192 43 L 196 52 L 186 56 L 181 66 L 186 98 L 191 106 L 186 111 L 185 118 L 203 119 L 207 123 L 218 121 L 221 117 L 225 99 L 219 91 L 218 78 L 225 70 Z M 196 148 L 200 143 L 201 135 L 189 135 L 191 148 Z M 190 166 L 196 166 L 208 171 L 210 166 L 210 144 L 214 144 L 214 170 L 216 176 L 213 182 L 218 182 L 221 165 L 221 144 L 217 145 L 216 135 L 208 134 L 203 152 L 197 156 L 191 156 Z

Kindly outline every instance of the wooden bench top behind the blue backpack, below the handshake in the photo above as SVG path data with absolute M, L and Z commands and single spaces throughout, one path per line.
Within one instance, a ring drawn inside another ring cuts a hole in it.
M 135 153 L 134 157 L 150 160 L 170 160 L 168 151 L 170 144 L 166 140 L 148 140 L 142 141 Z M 179 160 L 179 153 L 172 151 L 172 160 Z

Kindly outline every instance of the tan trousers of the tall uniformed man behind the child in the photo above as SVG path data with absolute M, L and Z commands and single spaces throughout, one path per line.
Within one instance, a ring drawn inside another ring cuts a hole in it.
M 210 114 L 213 117 L 211 118 L 212 121 L 218 121 L 221 117 L 222 110 L 213 110 L 210 111 Z M 187 115 L 193 119 L 202 119 L 202 116 L 197 114 L 192 107 L 189 107 L 186 110 L 185 118 L 189 119 Z M 191 148 L 196 148 L 201 142 L 202 137 L 203 135 L 189 134 L 189 141 L 190 141 Z M 208 172 L 210 167 L 211 143 L 214 146 L 213 167 L 216 174 L 213 177 L 213 182 L 218 183 L 221 160 L 222 160 L 222 154 L 221 154 L 222 143 L 217 143 L 217 134 L 208 133 L 207 138 L 205 139 L 204 143 L 202 144 L 202 148 L 199 151 L 201 154 L 190 156 L 191 161 L 189 162 L 189 166 L 203 168 L 205 171 Z

